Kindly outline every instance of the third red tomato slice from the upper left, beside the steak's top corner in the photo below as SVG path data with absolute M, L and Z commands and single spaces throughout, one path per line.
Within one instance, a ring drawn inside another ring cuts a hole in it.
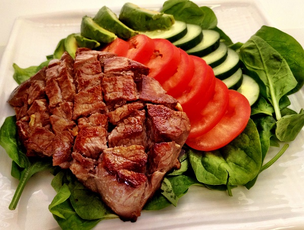
M 164 83 L 177 71 L 180 60 L 179 49 L 166 39 L 153 39 L 155 44 L 154 54 L 146 63 L 150 68 L 149 77 Z

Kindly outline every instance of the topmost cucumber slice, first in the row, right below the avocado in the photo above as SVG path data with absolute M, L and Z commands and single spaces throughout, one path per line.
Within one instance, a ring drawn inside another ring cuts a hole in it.
M 140 32 L 151 39 L 161 38 L 167 39 L 170 42 L 175 42 L 187 34 L 187 24 L 183 21 L 175 21 L 175 23 L 168 30 L 153 30 Z

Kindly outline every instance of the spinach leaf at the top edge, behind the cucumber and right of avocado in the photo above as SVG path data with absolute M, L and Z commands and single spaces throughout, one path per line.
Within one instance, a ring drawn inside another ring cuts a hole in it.
M 200 25 L 202 29 L 211 29 L 217 25 L 217 18 L 210 8 L 200 8 L 188 0 L 168 0 L 161 12 L 173 15 L 175 20 Z

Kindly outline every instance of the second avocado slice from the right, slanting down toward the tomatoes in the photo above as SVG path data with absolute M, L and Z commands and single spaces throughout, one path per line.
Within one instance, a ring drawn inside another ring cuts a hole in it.
M 115 13 L 113 13 L 109 8 L 106 6 L 102 7 L 93 20 L 100 25 L 101 27 L 113 32 L 117 35 L 117 37 L 121 39 L 129 39 L 134 37 L 138 34 L 137 31 L 126 26 L 122 23 Z

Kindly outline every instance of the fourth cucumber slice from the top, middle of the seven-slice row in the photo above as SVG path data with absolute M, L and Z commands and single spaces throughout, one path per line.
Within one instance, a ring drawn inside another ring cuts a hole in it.
M 224 43 L 220 42 L 216 50 L 203 56 L 202 58 L 206 61 L 207 64 L 210 65 L 210 67 L 215 68 L 217 65 L 223 63 L 226 57 L 227 46 Z

